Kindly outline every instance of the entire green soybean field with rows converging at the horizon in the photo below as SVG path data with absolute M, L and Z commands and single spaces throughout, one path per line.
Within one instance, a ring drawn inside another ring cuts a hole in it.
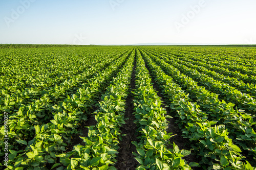
M 0 45 L 0 169 L 256 169 L 256 47 Z

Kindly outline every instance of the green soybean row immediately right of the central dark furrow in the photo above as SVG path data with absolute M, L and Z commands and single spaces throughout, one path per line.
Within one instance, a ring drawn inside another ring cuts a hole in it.
M 178 145 L 170 143 L 172 133 L 167 133 L 166 110 L 153 88 L 152 80 L 140 52 L 137 50 L 136 89 L 134 90 L 135 124 L 141 134 L 139 142 L 132 143 L 137 148 L 136 169 L 191 169 L 182 157 L 190 151 L 179 150 Z M 173 145 L 171 147 L 171 145 Z

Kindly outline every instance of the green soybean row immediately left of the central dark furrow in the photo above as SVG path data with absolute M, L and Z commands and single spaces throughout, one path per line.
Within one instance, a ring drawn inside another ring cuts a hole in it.
M 96 125 L 90 126 L 88 137 L 74 146 L 73 151 L 59 154 L 58 169 L 116 169 L 116 154 L 122 138 L 120 127 L 124 122 L 125 99 L 133 71 L 135 50 L 101 96 L 100 108 L 95 114 Z

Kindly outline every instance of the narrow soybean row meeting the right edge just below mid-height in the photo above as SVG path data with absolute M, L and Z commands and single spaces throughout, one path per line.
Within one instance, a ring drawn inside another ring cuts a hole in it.
M 245 84 L 242 80 L 238 80 L 237 78 L 230 78 L 225 75 L 218 74 L 216 71 L 211 71 L 203 66 L 198 65 L 198 62 L 194 62 L 191 59 L 186 59 L 185 57 L 177 57 L 174 55 L 165 55 L 162 53 L 155 53 L 155 52 L 151 52 L 151 53 L 155 54 L 156 56 L 167 57 L 169 63 L 173 63 L 174 61 L 177 64 L 181 64 L 186 67 L 189 67 L 192 70 L 196 70 L 196 72 L 201 73 L 205 77 L 211 77 L 216 81 L 221 81 L 223 83 L 226 83 L 230 85 L 230 87 L 233 89 L 237 88 L 243 93 L 248 93 L 252 96 L 256 96 L 256 85 L 254 86 L 253 84 Z M 202 79 L 202 76 L 195 77 L 196 81 L 198 81 L 197 79 L 198 80 Z

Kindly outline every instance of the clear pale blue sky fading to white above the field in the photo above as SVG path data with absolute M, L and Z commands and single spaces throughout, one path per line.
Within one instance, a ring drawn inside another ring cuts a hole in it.
M 255 0 L 1 0 L 0 43 L 256 44 Z

